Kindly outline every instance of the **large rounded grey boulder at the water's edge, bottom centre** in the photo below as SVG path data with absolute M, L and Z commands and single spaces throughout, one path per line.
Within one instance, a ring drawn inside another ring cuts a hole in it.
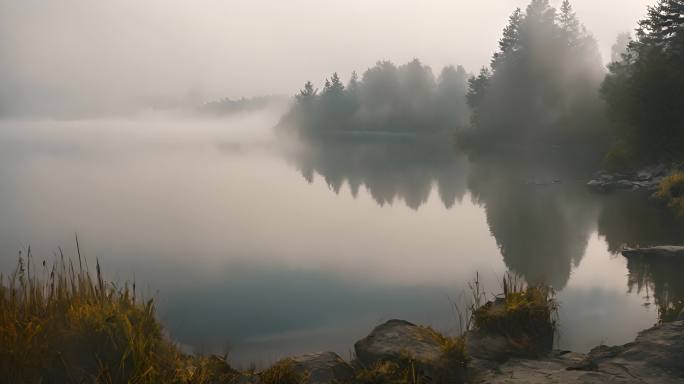
M 362 366 L 372 367 L 385 361 L 402 365 L 410 361 L 419 375 L 435 377 L 441 369 L 443 339 L 429 328 L 390 320 L 357 341 L 354 350 Z

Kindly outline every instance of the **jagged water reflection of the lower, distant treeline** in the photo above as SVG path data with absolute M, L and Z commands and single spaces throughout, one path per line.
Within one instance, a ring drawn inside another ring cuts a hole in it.
M 289 157 L 307 181 L 319 174 L 335 193 L 346 182 L 354 197 L 364 186 L 380 205 L 403 200 L 418 209 L 433 185 L 447 208 L 463 198 L 468 163 L 448 137 L 380 136 L 317 139 Z

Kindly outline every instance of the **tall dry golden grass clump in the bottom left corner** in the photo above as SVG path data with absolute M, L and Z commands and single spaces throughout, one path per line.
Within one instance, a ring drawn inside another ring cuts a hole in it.
M 61 251 L 60 251 L 61 254 Z M 176 382 L 185 359 L 165 339 L 153 300 L 91 277 L 79 254 L 36 271 L 30 249 L 0 276 L 0 377 L 10 383 Z

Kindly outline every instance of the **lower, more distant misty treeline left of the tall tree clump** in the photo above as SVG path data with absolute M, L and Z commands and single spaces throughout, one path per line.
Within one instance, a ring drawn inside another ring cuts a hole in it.
M 469 121 L 467 79 L 461 66 L 445 67 L 435 79 L 418 59 L 401 66 L 381 61 L 361 78 L 352 73 L 346 86 L 337 73 L 320 92 L 307 82 L 280 125 L 306 135 L 455 130 Z

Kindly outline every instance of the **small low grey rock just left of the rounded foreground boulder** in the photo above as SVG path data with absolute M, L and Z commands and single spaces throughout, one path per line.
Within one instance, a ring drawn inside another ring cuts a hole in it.
M 354 377 L 354 370 L 335 352 L 319 352 L 292 358 L 295 369 L 307 375 L 307 384 L 330 384 L 347 382 Z

